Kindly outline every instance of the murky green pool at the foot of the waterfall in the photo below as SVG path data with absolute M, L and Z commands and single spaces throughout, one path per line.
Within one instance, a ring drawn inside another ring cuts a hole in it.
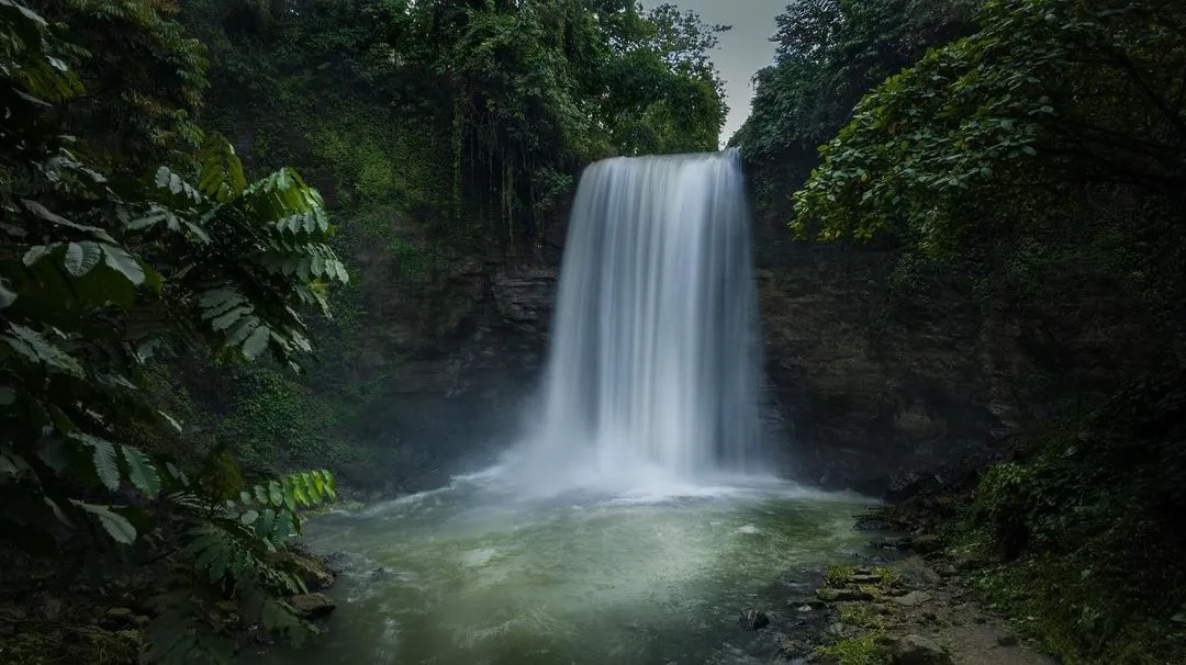
M 308 524 L 315 549 L 342 555 L 338 612 L 312 647 L 261 661 L 765 661 L 745 653 L 738 614 L 784 609 L 769 590 L 780 574 L 859 549 L 865 507 L 785 484 L 527 503 L 460 479 Z

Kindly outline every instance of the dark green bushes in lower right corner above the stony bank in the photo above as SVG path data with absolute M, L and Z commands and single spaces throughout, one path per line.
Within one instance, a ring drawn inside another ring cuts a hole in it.
M 1172 663 L 1186 635 L 1186 381 L 1148 379 L 981 480 L 965 533 L 1003 561 L 981 587 L 1072 663 Z M 1028 618 L 1028 619 L 1026 619 Z

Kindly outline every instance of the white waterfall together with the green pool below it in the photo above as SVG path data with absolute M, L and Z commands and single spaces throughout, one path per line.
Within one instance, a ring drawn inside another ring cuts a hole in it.
M 780 581 L 860 550 L 868 501 L 763 473 L 735 155 L 582 175 L 536 427 L 447 486 L 306 525 L 342 569 L 280 664 L 765 663 Z

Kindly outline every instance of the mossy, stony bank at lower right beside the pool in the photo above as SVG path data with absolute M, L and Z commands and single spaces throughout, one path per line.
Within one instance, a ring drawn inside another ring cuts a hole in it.
M 857 527 L 868 527 L 860 523 Z M 887 529 L 884 523 L 874 527 Z M 771 663 L 796 665 L 1051 665 L 975 595 L 974 570 L 938 537 L 871 533 L 879 554 L 805 568 L 783 582 L 780 608 L 739 622 L 766 633 Z

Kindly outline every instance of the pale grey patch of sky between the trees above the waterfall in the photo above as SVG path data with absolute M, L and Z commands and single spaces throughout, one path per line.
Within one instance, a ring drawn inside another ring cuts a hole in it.
M 750 79 L 761 68 L 774 59 L 774 17 L 783 13 L 789 0 L 669 0 L 682 9 L 700 14 L 707 24 L 732 25 L 733 30 L 721 34 L 721 43 L 713 53 L 716 69 L 725 79 L 729 115 L 721 130 L 721 143 L 726 143 L 750 115 L 753 85 Z M 646 8 L 662 4 L 661 0 L 644 0 Z

